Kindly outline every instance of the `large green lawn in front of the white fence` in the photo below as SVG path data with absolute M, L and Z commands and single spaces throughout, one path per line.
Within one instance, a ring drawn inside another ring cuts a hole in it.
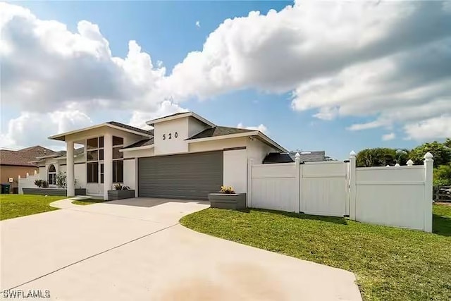
M 195 231 L 353 271 L 364 300 L 451 300 L 451 207 L 434 205 L 434 233 L 347 219 L 205 209 Z

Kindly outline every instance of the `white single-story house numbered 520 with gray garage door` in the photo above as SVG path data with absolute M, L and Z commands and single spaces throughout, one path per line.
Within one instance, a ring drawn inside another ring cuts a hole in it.
M 248 162 L 287 152 L 258 130 L 215 125 L 194 112 L 147 124 L 153 129 L 111 121 L 53 135 L 66 142 L 66 152 L 37 157 L 39 174 L 52 186 L 54 175 L 66 172 L 68 195 L 86 188 L 87 195 L 108 199 L 113 184 L 123 183 L 135 197 L 206 199 L 221 185 L 247 192 Z

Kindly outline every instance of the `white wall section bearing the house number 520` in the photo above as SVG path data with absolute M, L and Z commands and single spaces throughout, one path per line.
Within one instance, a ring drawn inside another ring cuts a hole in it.
M 154 126 L 155 155 L 188 152 L 188 144 L 185 141 L 187 137 L 188 118 L 156 123 Z

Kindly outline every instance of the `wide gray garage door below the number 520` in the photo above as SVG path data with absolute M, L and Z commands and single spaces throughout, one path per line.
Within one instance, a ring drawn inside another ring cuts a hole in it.
M 223 185 L 223 152 L 138 159 L 140 197 L 208 199 Z

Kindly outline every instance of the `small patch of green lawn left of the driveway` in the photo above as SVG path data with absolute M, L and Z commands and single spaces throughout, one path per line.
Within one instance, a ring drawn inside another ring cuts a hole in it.
M 66 197 L 44 195 L 0 195 L 0 220 L 57 210 L 51 202 Z

